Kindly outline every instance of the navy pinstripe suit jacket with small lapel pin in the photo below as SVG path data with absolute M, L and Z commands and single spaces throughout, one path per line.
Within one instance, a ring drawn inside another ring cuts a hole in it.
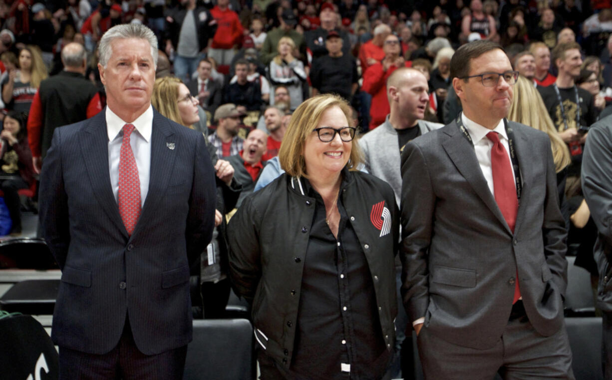
M 149 192 L 127 234 L 111 189 L 105 111 L 58 128 L 40 176 L 40 222 L 62 280 L 56 345 L 105 354 L 125 319 L 147 355 L 192 338 L 189 264 L 211 240 L 215 178 L 204 136 L 154 111 Z

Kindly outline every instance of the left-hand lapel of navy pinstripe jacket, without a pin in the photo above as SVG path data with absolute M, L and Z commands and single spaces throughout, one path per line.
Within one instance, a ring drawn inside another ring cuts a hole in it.
M 81 154 L 89 173 L 92 190 L 108 217 L 117 225 L 121 233 L 128 236 L 119 207 L 113 196 L 108 169 L 108 132 L 106 132 L 106 112 L 100 111 L 89 119 L 83 129 L 83 144 Z

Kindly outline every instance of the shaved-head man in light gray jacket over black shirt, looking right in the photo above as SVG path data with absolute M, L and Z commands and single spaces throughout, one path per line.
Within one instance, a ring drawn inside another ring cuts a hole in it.
M 425 75 L 403 67 L 387 79 L 390 113 L 383 124 L 359 140 L 364 150 L 365 168 L 389 182 L 399 204 L 401 193 L 400 153 L 408 141 L 424 135 L 442 124 L 423 120 L 429 102 Z

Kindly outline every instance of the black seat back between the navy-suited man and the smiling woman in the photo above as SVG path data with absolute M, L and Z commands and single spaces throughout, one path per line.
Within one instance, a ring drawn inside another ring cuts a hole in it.
M 183 380 L 253 380 L 253 327 L 247 319 L 193 321 Z

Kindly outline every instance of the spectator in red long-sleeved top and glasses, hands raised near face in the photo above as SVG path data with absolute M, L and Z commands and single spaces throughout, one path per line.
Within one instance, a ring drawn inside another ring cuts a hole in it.
M 411 67 L 410 61 L 401 56 L 400 39 L 397 35 L 389 34 L 384 40 L 385 57 L 383 61 L 371 65 L 365 70 L 363 89 L 372 95 L 370 106 L 370 130 L 383 124 L 389 114 L 389 100 L 387 100 L 387 78 L 398 67 Z

